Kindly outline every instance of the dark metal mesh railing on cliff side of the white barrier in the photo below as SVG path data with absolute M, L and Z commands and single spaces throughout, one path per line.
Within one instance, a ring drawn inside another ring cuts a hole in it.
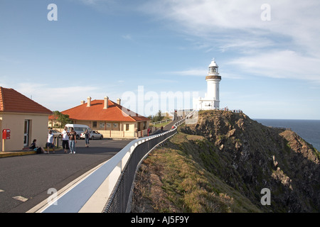
M 191 114 L 188 114 L 186 118 L 192 116 L 193 113 L 194 111 Z M 144 143 L 141 143 L 134 148 L 132 155 L 119 176 L 117 184 L 114 186 L 102 213 L 124 213 L 131 211 L 134 178 L 141 162 L 151 152 L 151 150 L 156 148 L 158 145 L 165 143 L 168 138 L 175 135 L 177 127 L 184 123 L 186 118 L 176 122 L 174 124 L 174 128 L 170 131 L 161 133 L 159 136 L 144 141 Z

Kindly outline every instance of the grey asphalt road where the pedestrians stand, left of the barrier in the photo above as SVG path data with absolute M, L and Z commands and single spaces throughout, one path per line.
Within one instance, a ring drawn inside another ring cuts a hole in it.
M 119 152 L 131 140 L 78 140 L 75 154 L 63 150 L 55 154 L 0 158 L 0 213 L 24 213 L 73 179 Z M 27 199 L 27 200 L 26 200 Z

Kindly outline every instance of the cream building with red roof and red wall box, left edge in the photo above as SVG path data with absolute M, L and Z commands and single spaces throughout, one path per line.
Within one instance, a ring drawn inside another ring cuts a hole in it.
M 0 87 L 1 151 L 22 150 L 37 140 L 45 146 L 48 138 L 48 116 L 52 111 L 14 89 Z M 10 139 L 2 140 L 2 131 L 10 129 Z

